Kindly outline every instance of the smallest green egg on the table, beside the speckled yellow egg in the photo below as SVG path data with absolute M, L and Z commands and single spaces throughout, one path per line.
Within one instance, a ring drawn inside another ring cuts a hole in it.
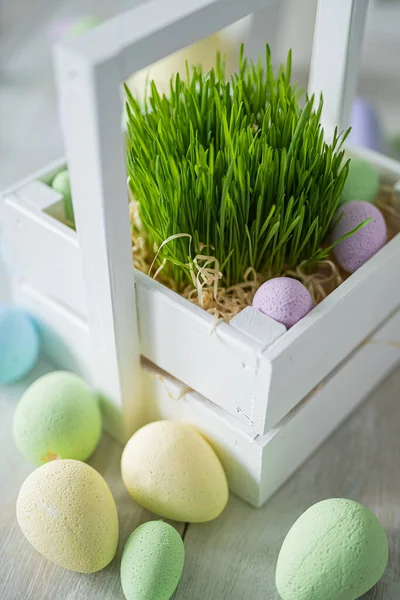
M 121 559 L 126 600 L 169 600 L 182 575 L 185 550 L 175 527 L 144 523 L 130 535 Z

